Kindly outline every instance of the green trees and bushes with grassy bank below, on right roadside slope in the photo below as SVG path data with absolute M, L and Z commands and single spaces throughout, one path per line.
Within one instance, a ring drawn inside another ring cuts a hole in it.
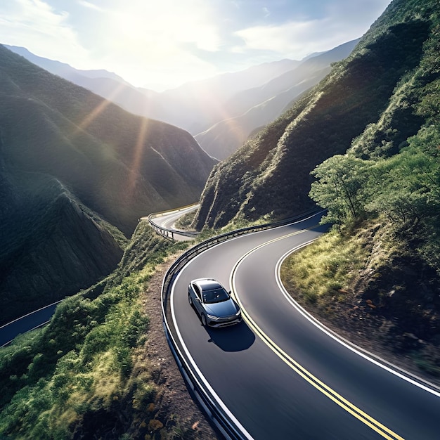
M 438 380 L 440 11 L 429 1 L 417 6 L 394 2 L 391 10 L 407 21 L 410 12 L 429 11 L 420 63 L 347 153 L 311 173 L 310 196 L 328 209 L 323 221 L 335 225 L 326 239 L 332 245 L 292 255 L 284 277 L 292 295 L 318 313 L 355 334 L 369 332 L 377 347 Z

